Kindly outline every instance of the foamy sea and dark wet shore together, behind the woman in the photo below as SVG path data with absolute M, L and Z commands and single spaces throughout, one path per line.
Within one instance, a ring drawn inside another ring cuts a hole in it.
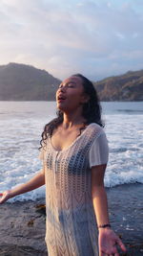
M 101 103 L 110 157 L 105 174 L 112 228 L 128 253 L 143 255 L 143 105 Z M 55 117 L 55 102 L 0 102 L 0 191 L 31 179 L 42 168 L 39 142 Z M 45 186 L 0 205 L 0 256 L 47 255 Z M 89 255 L 86 255 L 89 256 Z

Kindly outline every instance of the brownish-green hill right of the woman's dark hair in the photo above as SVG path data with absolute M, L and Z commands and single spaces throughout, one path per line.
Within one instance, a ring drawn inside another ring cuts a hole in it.
M 143 70 L 94 82 L 101 101 L 143 101 Z

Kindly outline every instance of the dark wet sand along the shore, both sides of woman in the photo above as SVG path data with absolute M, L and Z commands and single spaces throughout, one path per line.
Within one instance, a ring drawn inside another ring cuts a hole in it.
M 128 249 L 120 255 L 143 255 L 143 185 L 124 184 L 106 190 L 112 228 Z M 44 203 L 41 198 L 0 205 L 0 255 L 48 255 Z

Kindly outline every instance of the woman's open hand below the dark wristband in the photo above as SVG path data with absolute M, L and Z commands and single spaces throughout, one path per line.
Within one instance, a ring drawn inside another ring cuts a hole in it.
M 125 245 L 111 228 L 99 228 L 99 256 L 119 256 L 116 245 L 126 252 Z

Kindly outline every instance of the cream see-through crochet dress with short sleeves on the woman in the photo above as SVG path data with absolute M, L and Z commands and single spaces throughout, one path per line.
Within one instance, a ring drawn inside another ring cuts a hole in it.
M 92 123 L 63 151 L 56 151 L 49 137 L 40 158 L 45 168 L 49 256 L 97 256 L 91 168 L 108 162 L 105 131 Z

